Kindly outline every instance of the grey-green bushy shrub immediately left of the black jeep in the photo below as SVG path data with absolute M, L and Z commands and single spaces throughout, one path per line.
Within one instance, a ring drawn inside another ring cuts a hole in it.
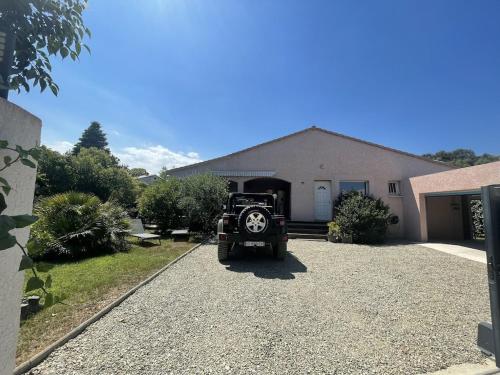
M 182 209 L 189 229 L 214 232 L 227 200 L 228 181 L 212 174 L 199 174 L 182 180 Z

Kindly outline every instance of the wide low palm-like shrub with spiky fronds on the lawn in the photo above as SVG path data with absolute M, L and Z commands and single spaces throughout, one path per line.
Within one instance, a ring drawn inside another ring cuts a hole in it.
M 126 212 L 94 195 L 56 194 L 40 200 L 35 214 L 39 220 L 32 226 L 29 246 L 35 258 L 81 258 L 128 248 Z

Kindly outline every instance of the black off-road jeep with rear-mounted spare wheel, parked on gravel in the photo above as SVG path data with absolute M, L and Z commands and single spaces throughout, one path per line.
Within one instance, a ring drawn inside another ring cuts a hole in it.
M 274 257 L 287 251 L 285 216 L 278 215 L 273 194 L 231 193 L 217 225 L 219 261 L 226 260 L 234 245 L 271 246 Z

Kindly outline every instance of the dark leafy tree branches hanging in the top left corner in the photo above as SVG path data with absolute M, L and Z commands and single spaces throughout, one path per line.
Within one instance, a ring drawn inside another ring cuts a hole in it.
M 15 34 L 15 51 L 9 86 L 13 90 L 30 90 L 40 85 L 54 95 L 59 86 L 51 76 L 51 56 L 80 56 L 90 30 L 83 23 L 82 13 L 87 0 L 2 0 L 0 28 Z

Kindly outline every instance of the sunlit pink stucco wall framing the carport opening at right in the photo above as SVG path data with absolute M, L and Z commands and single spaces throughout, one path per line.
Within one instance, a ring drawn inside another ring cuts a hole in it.
M 492 184 L 500 184 L 500 162 L 409 178 L 403 184 L 410 192 L 404 196 L 406 237 L 427 241 L 426 194 L 476 191 Z

